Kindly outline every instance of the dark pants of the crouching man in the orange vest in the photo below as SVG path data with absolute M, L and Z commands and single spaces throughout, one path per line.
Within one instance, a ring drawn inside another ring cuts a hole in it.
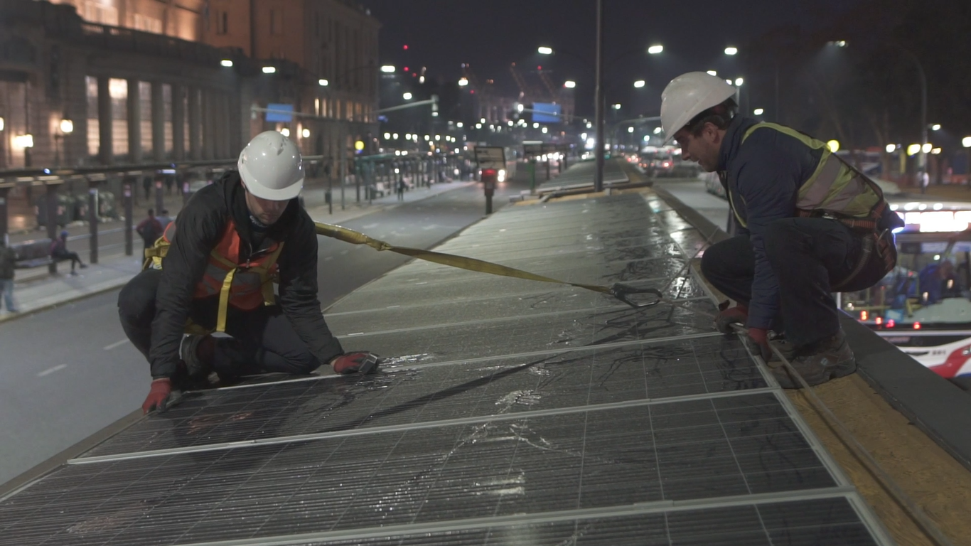
M 151 321 L 155 317 L 155 292 L 162 272 L 142 271 L 118 294 L 118 316 L 125 335 L 149 358 Z M 208 329 L 216 327 L 218 297 L 193 300 L 189 318 Z M 300 339 L 279 305 L 251 311 L 229 308 L 226 332 L 215 337 L 213 367 L 223 380 L 255 373 L 306 374 L 320 363 Z

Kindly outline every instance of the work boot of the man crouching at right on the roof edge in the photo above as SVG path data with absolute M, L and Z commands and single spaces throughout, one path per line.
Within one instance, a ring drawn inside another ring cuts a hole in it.
M 850 375 L 856 371 L 856 358 L 846 335 L 840 330 L 836 335 L 796 351 L 789 362 L 812 387 L 830 379 Z M 772 368 L 772 375 L 783 389 L 800 389 L 799 380 L 789 374 L 786 366 Z

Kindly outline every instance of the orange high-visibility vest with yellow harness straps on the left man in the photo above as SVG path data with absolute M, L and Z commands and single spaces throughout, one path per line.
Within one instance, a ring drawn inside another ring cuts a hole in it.
M 145 269 L 162 268 L 162 258 L 168 254 L 175 233 L 176 222 L 171 222 L 155 244 L 146 249 Z M 236 222 L 229 220 L 216 248 L 209 253 L 202 280 L 192 293 L 194 298 L 219 295 L 216 331 L 225 331 L 226 313 L 230 305 L 249 311 L 276 302 L 273 283 L 279 277 L 277 258 L 284 249 L 284 243 L 275 242 L 247 260 L 240 258 L 240 243 Z

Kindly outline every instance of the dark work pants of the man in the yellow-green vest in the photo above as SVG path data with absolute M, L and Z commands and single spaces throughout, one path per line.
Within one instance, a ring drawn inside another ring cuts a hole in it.
M 839 314 L 830 287 L 853 272 L 863 236 L 828 219 L 787 218 L 765 230 L 765 255 L 779 280 L 781 312 L 773 329 L 785 330 L 799 347 L 839 331 Z M 854 286 L 872 286 L 884 276 L 879 259 L 855 278 Z M 722 293 L 745 305 L 752 299 L 755 254 L 748 235 L 712 245 L 701 258 L 701 272 Z

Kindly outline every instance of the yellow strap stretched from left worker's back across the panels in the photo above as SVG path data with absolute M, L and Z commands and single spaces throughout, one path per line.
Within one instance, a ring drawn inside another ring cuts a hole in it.
M 626 303 L 627 305 L 636 308 L 639 307 L 650 307 L 660 303 L 663 298 L 660 290 L 656 289 L 639 289 L 634 287 L 628 287 L 626 285 L 621 285 L 616 283 L 612 287 L 602 287 L 599 285 L 584 285 L 581 283 L 568 283 L 566 281 L 560 281 L 557 279 L 552 279 L 551 277 L 545 277 L 543 275 L 537 275 L 535 273 L 530 273 L 528 271 L 522 271 L 521 269 L 516 269 L 514 267 L 508 267 L 506 265 L 499 265 L 498 263 L 492 263 L 490 261 L 484 261 L 482 259 L 476 259 L 474 257 L 468 256 L 455 256 L 450 254 L 436 253 L 433 251 L 423 251 L 420 249 L 412 249 L 408 247 L 395 247 L 394 245 L 385 243 L 369 237 L 353 229 L 348 229 L 347 227 L 341 227 L 340 225 L 332 225 L 330 223 L 314 222 L 317 226 L 318 235 L 323 235 L 325 237 L 330 237 L 337 239 L 339 241 L 344 241 L 345 243 L 351 243 L 352 245 L 367 245 L 376 251 L 390 251 L 392 253 L 400 254 L 403 256 L 417 257 L 425 261 L 433 261 L 435 263 L 441 263 L 442 265 L 448 265 L 451 267 L 457 267 L 459 269 L 466 269 L 468 271 L 476 271 L 479 273 L 487 273 L 489 275 L 502 275 L 504 277 L 514 277 L 516 279 L 525 279 L 527 281 L 539 281 L 541 283 L 555 283 L 558 285 L 567 285 L 571 287 L 577 287 L 578 289 L 592 290 L 599 293 L 605 293 L 618 298 L 620 301 Z M 656 299 L 648 302 L 637 302 L 631 300 L 628 296 L 634 293 L 650 293 L 656 296 Z

